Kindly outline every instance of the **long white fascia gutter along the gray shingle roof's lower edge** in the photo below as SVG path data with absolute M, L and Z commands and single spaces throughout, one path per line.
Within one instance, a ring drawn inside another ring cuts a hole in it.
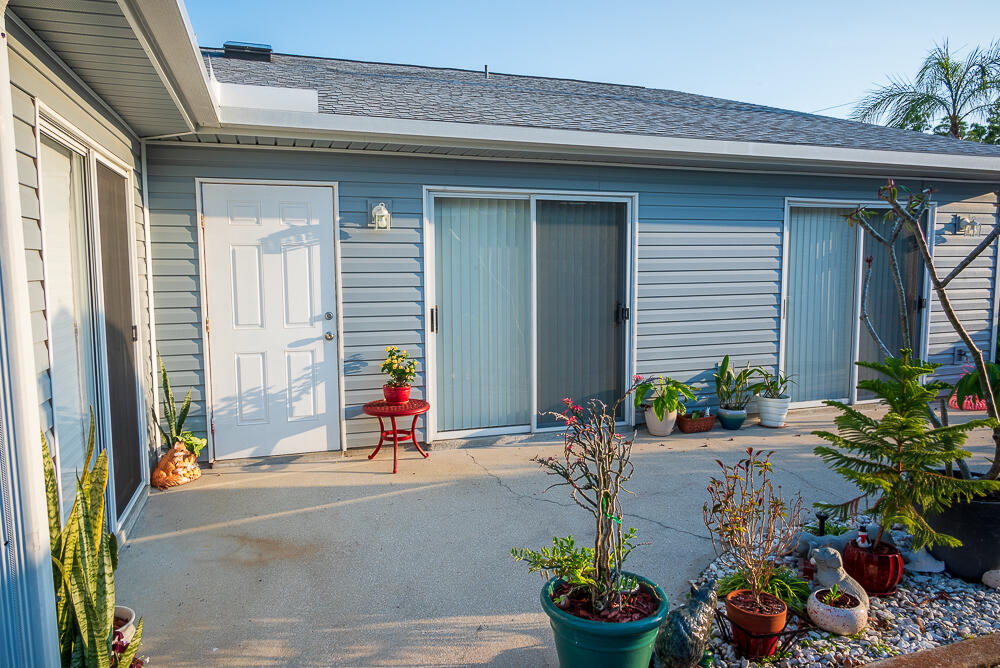
M 441 144 L 615 156 L 674 155 L 765 163 L 802 163 L 841 166 L 877 165 L 904 171 L 1000 176 L 1000 157 L 967 156 L 913 151 L 775 144 L 526 128 L 476 123 L 450 123 L 373 116 L 317 114 L 293 111 L 222 107 L 221 131 L 232 134 L 308 132 L 316 138 L 353 141 Z

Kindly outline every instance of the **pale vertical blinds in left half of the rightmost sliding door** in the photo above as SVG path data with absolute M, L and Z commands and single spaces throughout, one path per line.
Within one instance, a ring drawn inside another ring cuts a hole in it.
M 857 228 L 849 209 L 792 208 L 788 239 L 785 370 L 792 401 L 851 392 Z

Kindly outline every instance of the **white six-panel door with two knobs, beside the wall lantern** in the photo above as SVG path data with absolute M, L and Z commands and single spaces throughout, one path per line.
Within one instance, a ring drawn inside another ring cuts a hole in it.
M 202 186 L 216 459 L 340 448 L 333 198 Z

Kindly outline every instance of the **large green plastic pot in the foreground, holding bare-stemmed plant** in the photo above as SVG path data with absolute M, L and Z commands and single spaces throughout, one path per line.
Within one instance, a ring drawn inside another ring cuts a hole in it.
M 659 597 L 660 607 L 649 617 L 624 624 L 582 619 L 564 612 L 552 602 L 552 592 L 562 580 L 552 578 L 542 587 L 542 609 L 552 624 L 561 668 L 649 667 L 653 641 L 660 623 L 667 616 L 667 595 L 656 583 L 641 575 L 625 575 L 634 577 Z

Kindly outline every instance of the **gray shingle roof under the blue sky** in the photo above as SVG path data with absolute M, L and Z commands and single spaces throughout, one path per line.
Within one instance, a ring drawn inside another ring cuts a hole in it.
M 328 114 L 1000 157 L 1000 146 L 641 86 L 203 49 L 216 78 L 319 91 Z

